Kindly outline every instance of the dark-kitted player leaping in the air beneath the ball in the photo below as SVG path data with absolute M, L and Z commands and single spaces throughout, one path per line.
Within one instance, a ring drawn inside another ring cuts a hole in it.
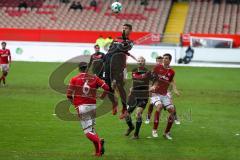
M 122 101 L 122 113 L 120 119 L 125 118 L 127 114 L 126 105 L 126 91 L 124 89 L 124 68 L 126 67 L 126 56 L 131 56 L 128 53 L 133 47 L 133 42 L 129 39 L 132 32 L 132 25 L 124 24 L 122 29 L 122 37 L 115 39 L 109 47 L 107 54 L 105 55 L 105 81 L 110 86 L 109 99 L 112 102 L 113 110 L 112 114 L 117 113 L 117 100 L 114 97 L 114 89 L 117 88 Z

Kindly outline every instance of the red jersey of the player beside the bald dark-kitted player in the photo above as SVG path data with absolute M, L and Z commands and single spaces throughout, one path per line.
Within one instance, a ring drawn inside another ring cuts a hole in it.
M 156 76 L 157 86 L 154 93 L 166 95 L 168 87 L 173 80 L 175 71 L 172 68 L 164 68 L 163 65 L 156 65 L 153 69 L 153 74 Z

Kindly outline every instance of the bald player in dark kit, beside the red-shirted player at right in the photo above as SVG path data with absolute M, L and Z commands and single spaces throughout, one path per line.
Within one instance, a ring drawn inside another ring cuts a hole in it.
M 149 81 L 151 79 L 151 72 L 145 68 L 145 59 L 143 57 L 138 58 L 138 67 L 132 70 L 132 88 L 128 96 L 128 109 L 127 116 L 125 117 L 128 125 L 127 132 L 128 136 L 133 130 L 134 125 L 131 119 L 131 113 L 137 107 L 136 111 L 136 129 L 134 132 L 133 139 L 139 138 L 139 130 L 142 124 L 142 113 L 145 109 L 148 97 L 149 97 Z

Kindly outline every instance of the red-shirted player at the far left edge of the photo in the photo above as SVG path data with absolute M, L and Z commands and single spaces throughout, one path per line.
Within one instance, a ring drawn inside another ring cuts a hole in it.
M 7 43 L 2 42 L 2 49 L 0 49 L 0 64 L 2 70 L 2 76 L 0 78 L 0 84 L 3 81 L 3 85 L 6 85 L 6 77 L 9 71 L 9 64 L 11 64 L 11 53 L 9 49 L 6 49 Z

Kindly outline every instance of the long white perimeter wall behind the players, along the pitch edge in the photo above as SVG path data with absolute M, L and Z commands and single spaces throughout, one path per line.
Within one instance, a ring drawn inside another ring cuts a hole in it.
M 94 52 L 94 43 L 54 43 L 54 42 L 18 42 L 8 41 L 14 61 L 65 62 L 73 57 L 88 56 Z M 102 50 L 104 52 L 104 50 Z M 194 57 L 190 64 L 178 64 L 185 56 L 186 48 L 135 45 L 130 51 L 135 57 L 143 56 L 147 63 L 155 63 L 155 58 L 164 53 L 173 56 L 171 65 L 240 67 L 240 49 L 194 48 Z M 128 58 L 128 63 L 136 63 Z

